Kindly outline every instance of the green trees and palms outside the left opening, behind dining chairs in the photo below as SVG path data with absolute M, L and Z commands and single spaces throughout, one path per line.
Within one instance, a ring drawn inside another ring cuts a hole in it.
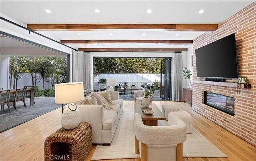
M 50 88 L 54 89 L 55 84 L 66 82 L 66 69 L 66 57 L 10 57 L 9 79 L 12 82 L 14 78 L 17 86 L 18 79 L 22 77 L 20 73 L 30 73 L 32 86 L 36 86 L 36 79 L 39 79 L 48 82 Z

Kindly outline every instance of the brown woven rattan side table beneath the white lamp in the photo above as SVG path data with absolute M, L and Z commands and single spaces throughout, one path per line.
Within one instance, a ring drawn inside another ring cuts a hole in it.
M 85 161 L 91 149 L 92 126 L 87 122 L 80 122 L 78 127 L 72 130 L 60 128 L 46 138 L 44 160 Z

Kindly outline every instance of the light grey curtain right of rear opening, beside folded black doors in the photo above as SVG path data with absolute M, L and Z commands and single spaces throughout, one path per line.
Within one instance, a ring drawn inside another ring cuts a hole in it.
M 174 70 L 173 70 L 173 88 L 172 101 L 182 101 L 182 55 L 181 53 L 174 54 Z

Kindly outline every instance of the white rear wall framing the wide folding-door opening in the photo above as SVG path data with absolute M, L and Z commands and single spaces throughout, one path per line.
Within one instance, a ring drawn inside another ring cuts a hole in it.
M 168 53 L 168 52 L 91 52 L 91 69 L 93 68 L 94 65 L 94 60 L 93 57 L 142 57 L 142 58 L 151 58 L 151 57 L 174 57 L 174 53 Z M 183 67 L 187 66 L 187 52 L 186 51 L 182 51 L 181 53 L 182 55 L 182 63 L 183 63 Z M 84 58 L 84 53 L 83 52 L 79 52 L 79 59 L 83 59 Z M 174 61 L 174 60 L 173 60 Z M 82 63 L 83 61 L 80 61 L 80 63 Z M 174 65 L 174 62 L 172 63 Z M 81 64 L 79 64 L 79 71 L 83 72 L 83 66 Z M 91 71 L 92 76 L 94 75 L 94 71 Z M 81 76 L 80 76 L 81 77 Z M 79 81 L 82 81 L 82 79 L 79 79 Z M 93 80 L 92 80 L 93 82 Z M 183 82 L 183 86 L 187 87 L 187 82 L 186 80 L 182 80 Z M 93 84 L 90 87 L 91 89 L 93 89 Z

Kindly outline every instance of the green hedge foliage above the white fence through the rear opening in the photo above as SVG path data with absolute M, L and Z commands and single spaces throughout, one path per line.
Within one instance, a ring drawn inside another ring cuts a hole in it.
M 95 58 L 95 74 L 100 73 L 160 73 L 158 58 Z

